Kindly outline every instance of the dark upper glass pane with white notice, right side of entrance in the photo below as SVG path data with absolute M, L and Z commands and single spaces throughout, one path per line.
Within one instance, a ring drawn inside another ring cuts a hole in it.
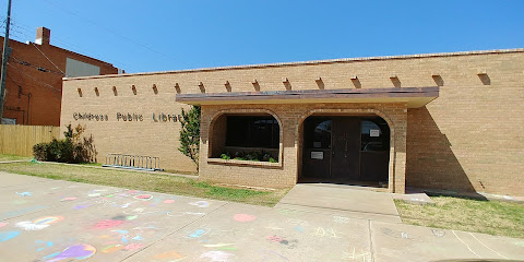
M 361 151 L 390 150 L 390 128 L 383 119 L 362 119 L 360 127 Z

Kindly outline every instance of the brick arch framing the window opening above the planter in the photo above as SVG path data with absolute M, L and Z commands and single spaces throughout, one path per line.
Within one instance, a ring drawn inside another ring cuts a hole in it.
M 281 120 L 281 118 L 278 117 L 278 115 L 272 110 L 269 110 L 269 109 L 258 109 L 258 108 L 231 108 L 231 109 L 223 109 L 223 110 L 219 110 L 217 112 L 215 112 L 213 115 L 213 117 L 210 118 L 210 121 L 209 121 L 209 132 L 207 132 L 207 157 L 211 157 L 211 154 L 212 154 L 212 151 L 213 151 L 213 141 L 212 141 L 212 135 L 213 135 L 213 132 L 214 132 L 214 127 L 215 127 L 215 123 L 216 123 L 216 120 L 222 117 L 223 115 L 225 114 L 260 114 L 260 112 L 263 112 L 263 114 L 267 114 L 270 116 L 272 116 L 277 122 L 278 122 L 278 162 L 279 163 L 283 163 L 284 162 L 284 146 L 283 146 L 283 142 L 284 142 L 284 126 L 283 126 L 283 122 Z

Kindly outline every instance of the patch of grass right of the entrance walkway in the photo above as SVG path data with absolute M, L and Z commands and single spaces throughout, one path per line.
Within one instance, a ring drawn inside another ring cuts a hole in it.
M 524 204 L 432 196 L 434 205 L 395 200 L 402 222 L 418 226 L 524 238 Z

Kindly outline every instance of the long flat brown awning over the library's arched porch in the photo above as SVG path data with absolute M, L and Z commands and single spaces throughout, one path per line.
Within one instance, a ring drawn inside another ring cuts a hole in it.
M 408 108 L 417 108 L 437 97 L 439 86 L 178 94 L 176 102 L 189 105 L 405 102 Z

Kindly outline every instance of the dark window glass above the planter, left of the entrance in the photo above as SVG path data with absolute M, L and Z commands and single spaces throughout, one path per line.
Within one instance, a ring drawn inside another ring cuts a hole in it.
M 226 146 L 278 148 L 279 135 L 273 117 L 227 116 Z

